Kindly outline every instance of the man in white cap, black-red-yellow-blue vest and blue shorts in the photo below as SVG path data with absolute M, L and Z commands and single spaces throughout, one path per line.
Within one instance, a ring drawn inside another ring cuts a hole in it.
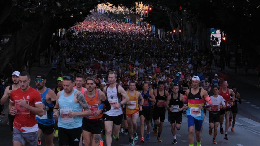
M 203 109 L 206 107 L 204 106 L 204 102 L 208 103 L 207 106 L 212 104 L 210 97 L 202 88 L 199 88 L 199 77 L 193 76 L 192 79 L 192 88 L 186 91 L 184 96 L 184 103 L 188 101 L 188 108 L 187 108 L 187 119 L 188 119 L 188 126 L 189 126 L 189 146 L 193 146 L 194 142 L 194 128 L 197 140 L 197 146 L 200 146 L 201 143 L 201 127 L 203 124 Z M 195 126 L 194 126 L 195 125 Z

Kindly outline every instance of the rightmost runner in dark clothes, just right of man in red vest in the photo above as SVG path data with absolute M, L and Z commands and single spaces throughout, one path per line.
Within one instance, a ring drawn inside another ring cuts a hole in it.
M 242 101 L 241 101 L 240 94 L 237 92 L 236 86 L 232 86 L 232 90 L 235 93 L 235 105 L 231 106 L 231 112 L 230 112 L 230 117 L 229 117 L 229 126 L 231 126 L 231 121 L 233 118 L 231 131 L 234 132 L 235 118 L 238 114 L 238 102 L 241 104 Z M 231 96 L 230 96 L 230 99 L 232 100 Z

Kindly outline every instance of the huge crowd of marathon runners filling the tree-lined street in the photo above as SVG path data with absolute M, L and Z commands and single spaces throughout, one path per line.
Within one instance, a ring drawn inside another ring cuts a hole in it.
M 54 136 L 60 146 L 111 146 L 120 133 L 129 135 L 132 146 L 149 141 L 150 135 L 163 142 L 165 118 L 176 144 L 184 114 L 189 146 L 194 141 L 199 146 L 207 111 L 213 144 L 219 124 L 228 140 L 241 98 L 235 86 L 229 88 L 217 74 L 210 76 L 217 53 L 161 40 L 149 31 L 94 13 L 53 46 L 53 70 L 66 68 L 54 77 L 56 88 L 45 87 L 47 77 L 39 73 L 33 89 L 27 72 L 14 71 L 13 84 L 1 98 L 1 105 L 9 100 L 13 145 L 41 145 L 43 134 L 47 146 L 53 146 Z

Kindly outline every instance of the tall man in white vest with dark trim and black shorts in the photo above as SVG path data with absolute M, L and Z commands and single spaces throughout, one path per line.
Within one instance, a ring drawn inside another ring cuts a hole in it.
M 106 144 L 111 146 L 112 143 L 112 127 L 113 137 L 119 140 L 120 124 L 123 118 L 122 105 L 129 101 L 126 91 L 122 86 L 116 83 L 117 74 L 116 72 L 109 72 L 108 81 L 109 85 L 104 87 L 105 95 L 111 105 L 111 110 L 105 113 L 105 128 L 106 128 Z M 122 96 L 122 97 L 121 97 Z

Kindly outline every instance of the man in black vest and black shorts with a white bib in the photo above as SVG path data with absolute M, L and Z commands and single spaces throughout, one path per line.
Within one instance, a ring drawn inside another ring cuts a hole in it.
M 173 134 L 172 144 L 177 143 L 175 127 L 178 131 L 181 129 L 182 110 L 184 108 L 187 108 L 186 104 L 183 106 L 182 100 L 184 96 L 178 93 L 178 91 L 179 91 L 179 85 L 174 84 L 173 93 L 171 93 L 167 97 L 167 101 L 166 101 L 166 108 L 169 110 L 170 123 L 172 127 L 171 132 Z

